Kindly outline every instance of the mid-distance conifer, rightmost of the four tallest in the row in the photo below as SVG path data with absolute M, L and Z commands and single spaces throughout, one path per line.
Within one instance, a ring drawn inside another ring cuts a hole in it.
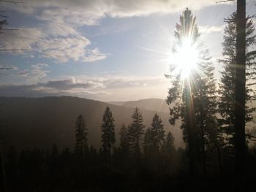
M 159 151 L 165 141 L 165 130 L 162 124 L 162 119 L 157 113 L 154 115 L 151 123 L 151 135 L 153 146 L 157 148 L 157 165 L 159 169 Z

